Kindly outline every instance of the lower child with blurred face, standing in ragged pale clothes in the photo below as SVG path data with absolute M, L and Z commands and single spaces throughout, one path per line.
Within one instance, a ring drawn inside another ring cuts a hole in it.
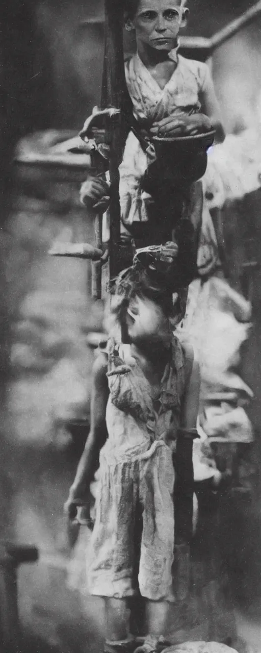
M 172 455 L 179 429 L 196 426 L 200 380 L 191 348 L 172 334 L 172 293 L 157 281 L 172 256 L 175 247 L 160 259 L 152 251 L 149 267 L 136 259 L 117 279 L 114 317 L 122 342 L 109 338 L 95 360 L 91 430 L 65 504 L 75 517 L 100 451 L 87 577 L 90 594 L 105 599 L 107 653 L 134 648 L 127 608 L 137 590 L 147 599 L 148 635 L 140 651 L 164 648 L 174 600 Z

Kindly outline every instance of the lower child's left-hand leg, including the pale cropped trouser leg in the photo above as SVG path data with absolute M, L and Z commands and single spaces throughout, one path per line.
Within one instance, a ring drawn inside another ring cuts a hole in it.
M 115 464 L 108 451 L 106 460 L 101 452 L 87 582 L 91 594 L 104 597 L 107 653 L 128 653 L 132 644 L 128 602 L 136 585 L 134 515 L 137 500 L 138 462 Z

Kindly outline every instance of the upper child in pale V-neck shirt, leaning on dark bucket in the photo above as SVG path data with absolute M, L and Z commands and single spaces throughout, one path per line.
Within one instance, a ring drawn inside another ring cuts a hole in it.
M 183 209 L 186 217 L 194 213 L 195 225 L 200 223 L 202 189 L 201 184 L 192 183 L 204 174 L 200 153 L 190 171 L 191 166 L 186 160 L 187 180 L 185 184 L 181 178 L 174 180 L 173 192 L 166 168 L 162 166 L 164 157 L 153 170 L 157 158 L 153 139 L 192 136 L 206 133 L 211 128 L 216 130 L 217 140 L 224 138 L 207 65 L 178 54 L 179 30 L 185 25 L 187 14 L 185 0 L 126 0 L 125 3 L 125 27 L 135 32 L 137 45 L 136 54 L 125 63 L 127 88 L 136 121 L 134 132 L 130 131 L 127 137 L 119 167 L 121 239 L 125 244 L 129 244 L 131 238 L 140 247 L 169 240 L 170 227 L 172 223 L 176 225 L 177 214 L 180 215 Z M 82 137 L 85 135 L 84 129 Z M 176 160 L 175 156 L 172 157 L 174 178 L 180 172 L 181 157 L 182 152 L 176 153 Z M 108 195 L 108 184 L 101 178 L 90 176 L 82 185 L 81 199 L 89 208 Z M 108 237 L 109 225 L 104 221 L 103 238 L 108 240 Z M 129 264 L 131 261 L 129 247 Z

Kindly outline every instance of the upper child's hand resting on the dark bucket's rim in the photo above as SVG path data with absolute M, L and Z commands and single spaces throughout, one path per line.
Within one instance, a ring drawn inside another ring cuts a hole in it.
M 153 136 L 192 136 L 211 131 L 211 121 L 204 114 L 192 114 L 192 116 L 168 116 L 161 121 L 154 123 L 151 127 Z

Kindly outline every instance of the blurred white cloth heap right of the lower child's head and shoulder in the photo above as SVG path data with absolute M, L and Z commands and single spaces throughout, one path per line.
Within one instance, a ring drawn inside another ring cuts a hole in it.
M 200 362 L 203 408 L 200 424 L 206 435 L 216 441 L 247 443 L 253 439 L 253 428 L 245 411 L 253 391 L 238 372 L 241 347 L 251 329 L 250 320 L 250 302 L 224 279 L 192 281 L 181 331 L 189 336 Z M 217 393 L 219 402 L 211 400 L 211 395 Z

